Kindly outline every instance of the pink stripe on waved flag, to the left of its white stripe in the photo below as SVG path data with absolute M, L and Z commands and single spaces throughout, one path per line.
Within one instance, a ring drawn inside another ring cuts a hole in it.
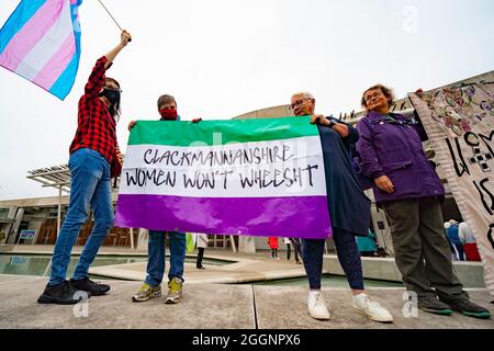
M 0 55 L 0 63 L 15 71 L 25 56 L 37 42 L 50 30 L 60 16 L 64 1 L 47 1 L 32 19 L 15 34 Z

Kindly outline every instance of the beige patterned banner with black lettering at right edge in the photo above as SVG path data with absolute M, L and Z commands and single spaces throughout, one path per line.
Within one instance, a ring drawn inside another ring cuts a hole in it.
M 473 231 L 494 297 L 494 82 L 409 97 Z

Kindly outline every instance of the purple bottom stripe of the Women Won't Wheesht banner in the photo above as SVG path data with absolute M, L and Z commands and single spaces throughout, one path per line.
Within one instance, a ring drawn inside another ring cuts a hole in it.
M 332 236 L 326 196 L 207 199 L 120 194 L 116 226 L 260 237 Z

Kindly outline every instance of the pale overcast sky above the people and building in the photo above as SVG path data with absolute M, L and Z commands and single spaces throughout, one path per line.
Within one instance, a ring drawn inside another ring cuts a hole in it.
M 20 0 L 2 0 L 0 26 Z M 109 76 L 123 89 L 117 137 L 157 120 L 173 94 L 184 120 L 225 120 L 307 90 L 317 112 L 359 110 L 382 82 L 404 97 L 494 69 L 492 0 L 104 0 L 133 42 Z M 97 0 L 80 11 L 82 56 L 65 101 L 0 67 L 0 200 L 56 195 L 27 170 L 66 163 L 77 101 L 94 61 L 120 41 Z

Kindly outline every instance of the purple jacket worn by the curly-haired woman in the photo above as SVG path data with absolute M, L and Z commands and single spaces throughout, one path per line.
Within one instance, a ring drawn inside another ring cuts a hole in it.
M 370 112 L 357 129 L 362 173 L 372 180 L 388 176 L 394 184 L 392 194 L 373 184 L 378 203 L 444 196 L 445 188 L 422 146 L 420 136 L 423 139 L 427 136 L 420 125 L 400 114 Z

